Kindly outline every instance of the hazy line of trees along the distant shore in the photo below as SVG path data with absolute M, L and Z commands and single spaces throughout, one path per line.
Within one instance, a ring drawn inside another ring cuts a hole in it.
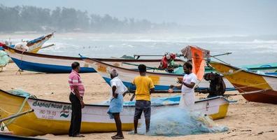
M 75 8 L 54 10 L 36 6 L 0 5 L 0 32 L 8 31 L 83 31 L 95 33 L 138 33 L 176 28 L 175 23 L 152 23 L 134 18 L 90 14 Z

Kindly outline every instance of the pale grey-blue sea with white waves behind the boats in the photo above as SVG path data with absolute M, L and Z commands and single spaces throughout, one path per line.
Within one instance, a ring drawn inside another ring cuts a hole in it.
M 34 39 L 42 34 L 1 34 L 0 41 L 13 43 Z M 232 52 L 218 57 L 232 65 L 277 62 L 277 35 L 180 35 L 180 34 L 55 34 L 45 45 L 55 46 L 39 53 L 78 57 L 121 57 L 122 55 L 164 55 L 180 53 L 187 45 L 211 50 L 211 55 Z M 153 57 L 141 57 L 141 59 Z M 160 58 L 160 57 L 156 57 Z

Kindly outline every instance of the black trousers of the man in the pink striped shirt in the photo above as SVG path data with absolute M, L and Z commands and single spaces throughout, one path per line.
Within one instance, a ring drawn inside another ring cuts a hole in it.
M 76 136 L 76 134 L 80 134 L 80 125 L 82 121 L 82 106 L 80 104 L 80 100 L 76 97 L 72 92 L 69 95 L 69 100 L 71 102 L 71 123 L 69 127 L 69 136 Z

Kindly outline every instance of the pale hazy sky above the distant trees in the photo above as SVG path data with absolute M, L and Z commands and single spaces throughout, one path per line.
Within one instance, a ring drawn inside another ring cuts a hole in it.
M 117 18 L 176 22 L 180 25 L 241 29 L 276 34 L 275 0 L 0 0 L 4 6 L 56 6 Z

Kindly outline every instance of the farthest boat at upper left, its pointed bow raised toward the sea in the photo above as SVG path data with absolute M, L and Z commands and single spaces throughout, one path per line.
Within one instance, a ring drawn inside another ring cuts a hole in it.
M 38 38 L 35 38 L 31 41 L 26 41 L 26 45 L 29 48 L 28 52 L 37 53 L 38 50 L 40 50 L 43 47 L 43 44 L 48 41 L 52 36 L 54 32 L 51 34 L 47 34 L 45 36 L 41 36 Z M 15 45 L 9 45 L 11 48 L 14 48 Z M 0 50 L 3 50 L 3 48 L 0 47 Z

